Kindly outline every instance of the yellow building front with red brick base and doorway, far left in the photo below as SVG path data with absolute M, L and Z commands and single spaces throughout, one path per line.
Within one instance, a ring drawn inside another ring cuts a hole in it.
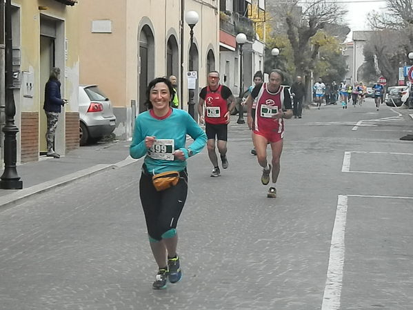
M 79 146 L 79 15 L 76 3 L 76 0 L 12 1 L 14 119 L 19 128 L 17 162 L 36 161 L 47 151 L 43 100 L 52 67 L 61 69 L 61 93 L 69 101 L 59 117 L 55 150 L 65 154 Z M 4 62 L 1 66 L 4 72 Z M 1 85 L 1 101 L 4 102 L 4 83 Z M 0 113 L 3 111 L 2 108 Z

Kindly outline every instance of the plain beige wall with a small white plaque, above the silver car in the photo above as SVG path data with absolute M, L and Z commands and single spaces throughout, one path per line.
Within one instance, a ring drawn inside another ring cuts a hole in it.
M 137 1 L 139 2 L 139 1 Z M 99 84 L 113 106 L 125 106 L 126 3 L 123 0 L 79 1 L 80 84 Z M 112 21 L 112 33 L 92 33 L 92 21 Z

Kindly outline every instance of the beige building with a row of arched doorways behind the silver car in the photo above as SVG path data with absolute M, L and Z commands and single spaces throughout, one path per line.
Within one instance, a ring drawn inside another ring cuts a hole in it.
M 188 110 L 187 72 L 197 71 L 194 101 L 207 72 L 219 61 L 216 0 L 88 0 L 81 10 L 81 84 L 99 84 L 117 117 L 119 139 L 132 136 L 134 118 L 144 111 L 145 90 L 154 77 L 175 75 L 181 108 Z M 197 12 L 190 26 L 185 14 Z M 192 106 L 193 107 L 193 106 Z M 194 117 L 197 119 L 196 108 Z

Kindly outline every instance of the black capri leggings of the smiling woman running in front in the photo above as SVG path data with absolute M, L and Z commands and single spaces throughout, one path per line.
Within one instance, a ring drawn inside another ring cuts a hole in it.
M 177 185 L 157 191 L 152 184 L 152 175 L 141 174 L 139 195 L 145 213 L 148 235 L 154 240 L 162 240 L 163 233 L 176 229 L 179 215 L 188 194 L 188 174 L 186 169 L 179 173 Z

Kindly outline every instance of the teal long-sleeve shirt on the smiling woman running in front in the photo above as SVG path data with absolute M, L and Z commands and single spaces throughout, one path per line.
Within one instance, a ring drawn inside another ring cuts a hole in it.
M 130 144 L 130 156 L 141 158 L 145 156 L 145 164 L 148 171 L 153 174 L 166 171 L 182 171 L 186 167 L 186 160 L 165 160 L 154 159 L 148 155 L 148 148 L 145 146 L 145 137 L 152 136 L 155 139 L 174 139 L 174 151 L 181 150 L 188 159 L 188 150 L 185 148 L 186 135 L 190 135 L 194 141 L 188 146 L 193 155 L 199 153 L 204 148 L 207 137 L 201 127 L 184 110 L 172 109 L 172 113 L 165 119 L 157 119 L 145 111 L 138 115 Z

